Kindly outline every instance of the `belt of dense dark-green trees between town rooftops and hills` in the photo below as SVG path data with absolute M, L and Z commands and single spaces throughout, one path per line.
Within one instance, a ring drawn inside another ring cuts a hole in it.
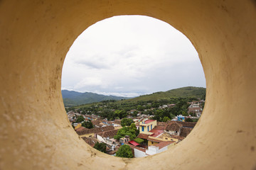
M 196 100 L 196 98 L 170 98 L 169 100 L 159 101 L 137 101 L 128 103 L 118 103 L 117 101 L 105 101 L 104 103 L 92 104 L 84 108 L 78 108 L 77 112 L 82 114 L 100 115 L 107 120 L 126 118 L 127 115 L 137 116 L 138 111 L 130 112 L 133 109 L 140 109 L 142 114 L 154 115 L 154 119 L 158 121 L 167 121 L 174 118 L 175 115 L 188 115 L 188 102 Z M 151 103 L 150 103 L 151 102 Z M 149 104 L 150 103 L 150 104 Z M 164 104 L 176 104 L 172 108 L 159 108 Z M 114 110 L 118 109 L 118 110 Z M 67 111 L 75 110 L 75 108 L 68 108 Z M 134 114 L 135 113 L 135 114 Z

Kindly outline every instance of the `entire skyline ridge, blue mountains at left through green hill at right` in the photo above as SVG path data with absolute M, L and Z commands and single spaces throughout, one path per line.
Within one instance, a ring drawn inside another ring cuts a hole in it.
M 139 96 L 136 98 L 126 98 L 120 96 L 105 96 L 102 94 L 94 94 L 90 92 L 80 93 L 77 91 L 61 91 L 63 94 L 63 102 L 65 107 L 78 106 L 87 103 L 94 103 L 107 100 L 116 100 L 120 101 L 122 99 L 127 99 L 122 102 L 132 102 L 132 101 L 157 101 L 159 99 L 169 99 L 169 98 L 178 98 L 178 97 L 194 97 L 202 98 L 206 96 L 206 88 L 203 87 L 193 87 L 187 86 L 178 89 L 172 89 L 169 91 L 160 91 L 154 94 L 147 94 Z

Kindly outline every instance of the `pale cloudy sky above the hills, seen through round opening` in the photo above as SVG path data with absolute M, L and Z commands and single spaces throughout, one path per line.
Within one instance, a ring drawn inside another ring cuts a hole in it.
M 198 54 L 185 35 L 147 16 L 114 16 L 87 28 L 65 58 L 62 89 L 139 96 L 206 87 Z

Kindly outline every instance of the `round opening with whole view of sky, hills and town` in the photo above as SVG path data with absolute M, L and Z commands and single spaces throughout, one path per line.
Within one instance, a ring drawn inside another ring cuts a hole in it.
M 62 74 L 73 128 L 117 157 L 146 157 L 181 142 L 203 112 L 205 87 L 188 38 L 148 16 L 115 16 L 87 28 Z

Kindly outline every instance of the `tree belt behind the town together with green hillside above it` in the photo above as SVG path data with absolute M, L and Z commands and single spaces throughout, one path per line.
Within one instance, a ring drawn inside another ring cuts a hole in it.
M 137 117 L 137 114 L 141 113 L 145 115 L 154 115 L 153 119 L 157 121 L 168 121 L 174 118 L 176 115 L 188 115 L 188 102 L 196 101 L 198 98 L 205 100 L 206 97 L 206 89 L 198 87 L 174 89 L 171 90 L 171 92 L 167 91 L 166 93 L 173 94 L 175 97 L 170 96 L 169 98 L 165 99 L 157 98 L 156 100 L 149 101 L 140 101 L 137 100 L 137 98 L 122 101 L 108 100 L 99 103 L 90 103 L 75 108 L 66 108 L 66 110 L 72 111 L 76 109 L 78 113 L 82 113 L 84 115 L 100 115 L 102 118 L 107 118 L 107 120 L 126 118 L 127 115 Z M 158 94 L 156 93 L 156 95 Z M 152 94 L 151 96 L 156 95 Z M 176 95 L 187 97 L 179 97 Z M 193 97 L 193 95 L 196 95 L 196 97 Z M 159 106 L 164 106 L 167 104 L 175 104 L 175 106 L 171 108 L 159 108 Z

